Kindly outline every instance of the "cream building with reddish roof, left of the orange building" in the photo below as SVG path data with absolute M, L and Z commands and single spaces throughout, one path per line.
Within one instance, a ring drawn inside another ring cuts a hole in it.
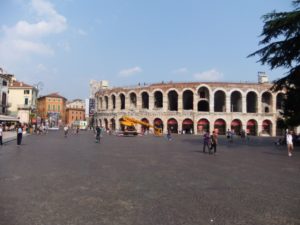
M 10 115 L 19 117 L 21 123 L 30 123 L 30 115 L 37 108 L 37 88 L 24 82 L 12 81 L 8 92 Z

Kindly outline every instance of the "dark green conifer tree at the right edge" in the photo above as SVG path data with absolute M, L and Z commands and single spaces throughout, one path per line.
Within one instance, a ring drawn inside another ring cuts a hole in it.
M 262 65 L 271 69 L 287 69 L 285 76 L 274 81 L 273 91 L 284 90 L 283 117 L 288 126 L 300 125 L 300 0 L 292 1 L 294 10 L 290 12 L 273 11 L 262 17 L 264 21 L 263 48 L 248 57 L 259 55 Z

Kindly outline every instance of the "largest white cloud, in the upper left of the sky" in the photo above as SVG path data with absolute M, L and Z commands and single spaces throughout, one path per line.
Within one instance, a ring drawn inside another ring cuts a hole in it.
M 14 26 L 3 26 L 3 38 L 0 40 L 0 61 L 14 63 L 31 54 L 53 55 L 54 50 L 43 42 L 43 37 L 58 34 L 67 28 L 67 20 L 46 0 L 32 0 L 31 9 L 38 21 L 31 23 L 18 21 Z

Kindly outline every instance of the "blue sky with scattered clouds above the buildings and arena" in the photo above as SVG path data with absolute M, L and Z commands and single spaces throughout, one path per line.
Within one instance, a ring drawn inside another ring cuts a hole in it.
M 0 67 L 41 94 L 87 98 L 89 81 L 257 81 L 270 71 L 247 58 L 261 16 L 291 1 L 1 0 Z

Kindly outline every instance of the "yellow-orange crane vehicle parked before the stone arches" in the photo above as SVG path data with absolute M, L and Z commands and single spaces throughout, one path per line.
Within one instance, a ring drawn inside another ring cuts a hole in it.
M 135 125 L 140 124 L 142 126 L 153 128 L 155 136 L 162 136 L 162 129 L 156 126 L 153 126 L 149 123 L 137 120 L 129 116 L 123 116 L 120 120 L 121 125 L 124 126 L 124 135 L 137 135 L 138 132 L 135 128 Z

